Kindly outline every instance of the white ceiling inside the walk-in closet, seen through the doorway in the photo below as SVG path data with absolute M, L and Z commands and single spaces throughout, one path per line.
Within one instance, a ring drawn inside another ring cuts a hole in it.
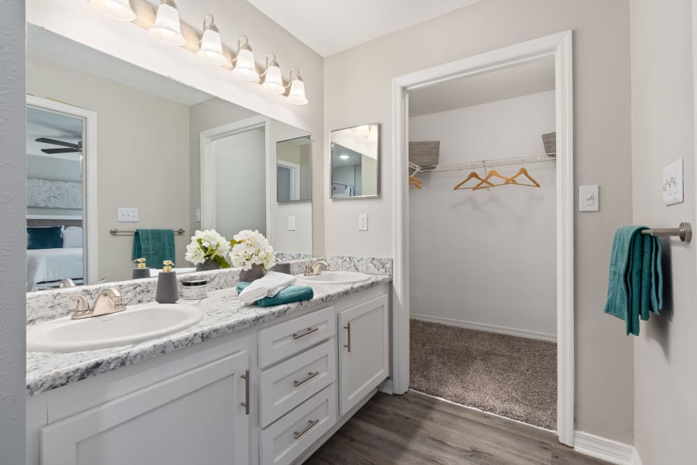
M 554 89 L 554 57 L 409 92 L 409 116 L 447 112 Z

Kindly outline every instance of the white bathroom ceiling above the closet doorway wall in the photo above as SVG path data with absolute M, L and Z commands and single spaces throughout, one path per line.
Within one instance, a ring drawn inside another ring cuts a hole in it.
M 482 0 L 247 0 L 329 56 Z

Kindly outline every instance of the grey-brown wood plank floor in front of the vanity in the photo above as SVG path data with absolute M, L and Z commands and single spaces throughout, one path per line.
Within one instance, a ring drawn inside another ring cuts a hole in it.
M 418 392 L 378 392 L 307 465 L 600 465 L 542 429 Z

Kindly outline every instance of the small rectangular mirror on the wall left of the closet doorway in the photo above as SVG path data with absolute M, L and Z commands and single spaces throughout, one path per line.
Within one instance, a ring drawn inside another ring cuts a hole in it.
M 333 130 L 331 199 L 378 196 L 378 123 Z

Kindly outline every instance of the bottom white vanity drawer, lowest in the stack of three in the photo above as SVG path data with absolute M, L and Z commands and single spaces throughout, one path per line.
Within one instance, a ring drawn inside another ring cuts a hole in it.
M 337 421 L 336 384 L 261 431 L 261 463 L 286 465 L 300 457 Z

